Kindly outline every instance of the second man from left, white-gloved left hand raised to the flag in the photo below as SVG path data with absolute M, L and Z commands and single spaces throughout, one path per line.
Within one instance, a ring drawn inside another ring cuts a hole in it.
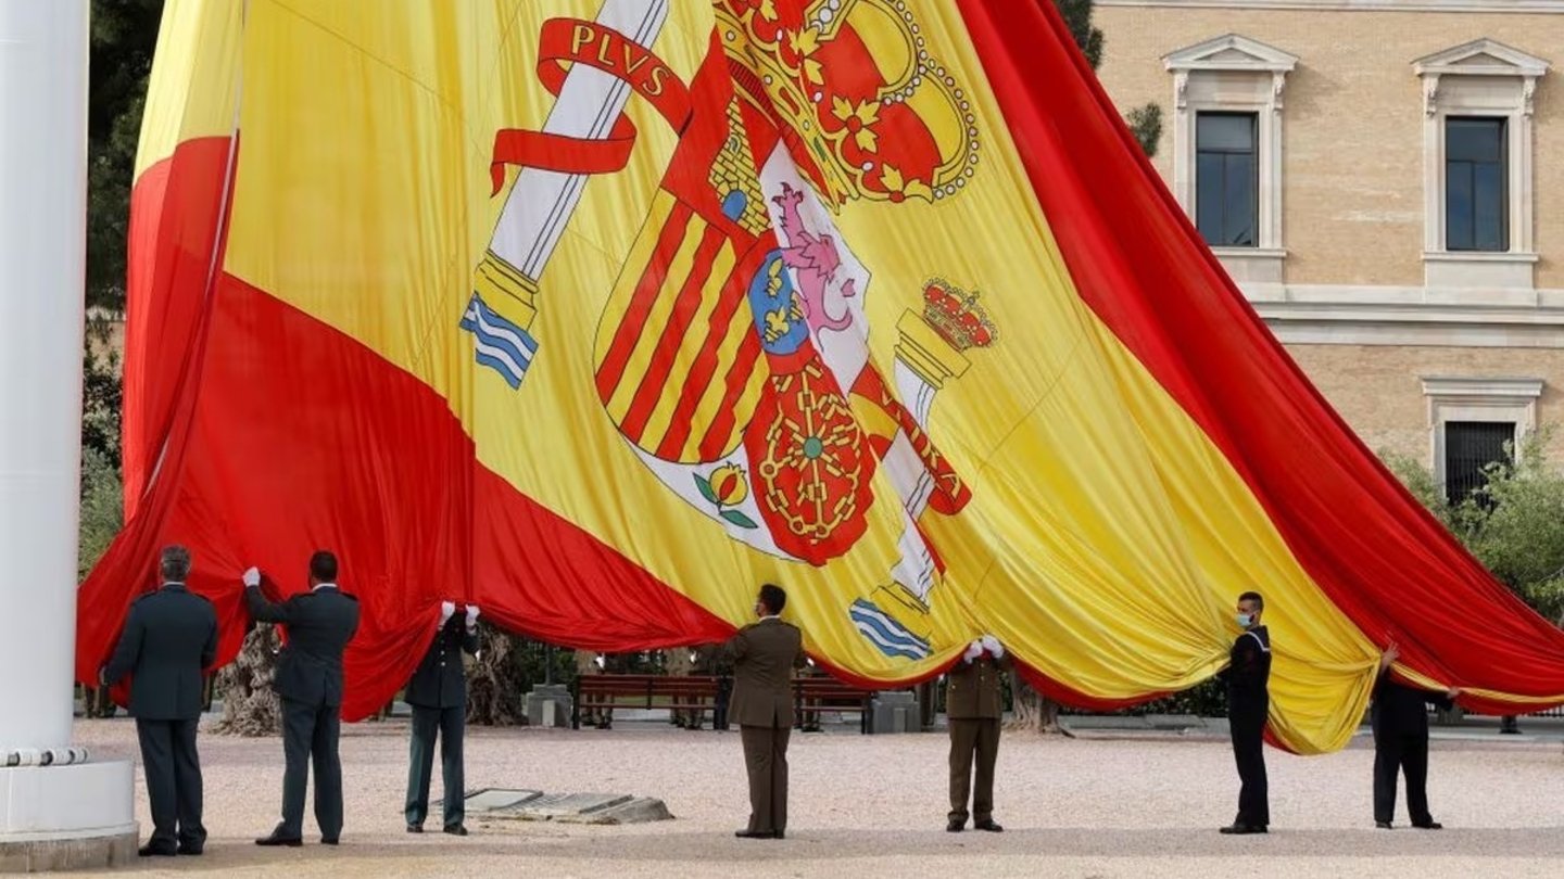
M 343 835 L 343 762 L 336 754 L 343 712 L 343 649 L 358 632 L 358 599 L 336 588 L 336 557 L 310 558 L 310 591 L 283 604 L 261 594 L 261 572 L 244 572 L 250 616 L 286 626 L 272 688 L 283 702 L 283 820 L 258 846 L 303 845 L 303 791 L 314 762 L 314 821 L 321 841 Z

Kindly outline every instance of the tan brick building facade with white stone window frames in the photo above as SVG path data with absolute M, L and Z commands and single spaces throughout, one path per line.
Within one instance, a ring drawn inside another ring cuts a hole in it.
M 1096 0 L 1096 25 L 1114 102 L 1162 106 L 1157 170 L 1370 447 L 1458 496 L 1564 421 L 1564 0 Z

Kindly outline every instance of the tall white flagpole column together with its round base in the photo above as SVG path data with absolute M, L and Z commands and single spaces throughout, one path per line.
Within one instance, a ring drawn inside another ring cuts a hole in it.
M 135 851 L 130 765 L 69 748 L 86 111 L 88 0 L 0 0 L 0 871 Z

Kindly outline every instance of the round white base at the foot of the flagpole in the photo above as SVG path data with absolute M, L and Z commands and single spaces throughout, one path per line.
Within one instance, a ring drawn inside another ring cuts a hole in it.
M 0 770 L 0 873 L 136 862 L 130 760 Z

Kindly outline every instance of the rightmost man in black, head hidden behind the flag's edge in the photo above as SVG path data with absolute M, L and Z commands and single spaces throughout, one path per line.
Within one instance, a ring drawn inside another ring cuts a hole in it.
M 1433 693 L 1408 687 L 1390 677 L 1390 665 L 1401 657 L 1401 649 L 1390 644 L 1379 657 L 1379 677 L 1373 685 L 1373 709 L 1368 721 L 1373 726 L 1373 823 L 1381 831 L 1390 829 L 1395 816 L 1395 774 L 1406 773 L 1406 812 L 1412 826 L 1423 831 L 1439 831 L 1444 824 L 1428 813 L 1428 704 L 1450 710 L 1461 690 L 1451 687 Z

